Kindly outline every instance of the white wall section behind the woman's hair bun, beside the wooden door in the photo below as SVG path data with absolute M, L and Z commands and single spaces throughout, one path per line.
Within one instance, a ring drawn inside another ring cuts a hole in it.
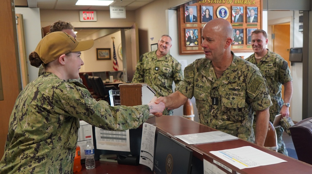
M 16 14 L 23 15 L 25 49 L 28 56 L 35 51 L 37 44 L 41 40 L 40 12 L 39 8 L 15 7 Z M 30 65 L 27 57 L 28 80 L 31 82 L 38 77 L 39 68 Z

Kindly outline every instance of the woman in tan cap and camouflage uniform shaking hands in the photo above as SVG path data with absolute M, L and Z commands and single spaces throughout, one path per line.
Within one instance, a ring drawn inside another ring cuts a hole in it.
M 81 51 L 93 40 L 77 41 L 56 31 L 47 34 L 29 55 L 32 66 L 45 72 L 30 82 L 17 97 L 9 123 L 1 173 L 72 173 L 79 119 L 106 130 L 139 127 L 149 114 L 164 109 L 154 97 L 146 105 L 110 106 L 96 101 L 78 81 L 84 62 Z

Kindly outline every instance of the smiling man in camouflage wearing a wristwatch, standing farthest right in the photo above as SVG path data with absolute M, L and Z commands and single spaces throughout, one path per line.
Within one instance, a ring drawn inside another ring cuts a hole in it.
M 255 64 L 266 77 L 270 96 L 273 105 L 270 107 L 270 122 L 273 123 L 277 114 L 289 117 L 289 102 L 292 96 L 292 77 L 287 61 L 280 55 L 266 49 L 268 43 L 267 34 L 263 30 L 255 30 L 251 35 L 251 46 L 254 54 L 246 60 Z M 282 99 L 282 85 L 284 85 L 284 100 Z M 254 120 L 254 125 L 255 125 Z M 285 143 L 282 139 L 283 128 L 275 128 L 277 135 L 278 150 L 284 155 L 288 155 Z

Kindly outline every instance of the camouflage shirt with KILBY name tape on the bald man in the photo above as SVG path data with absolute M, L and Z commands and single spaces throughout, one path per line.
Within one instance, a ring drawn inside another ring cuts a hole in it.
M 261 71 L 231 53 L 232 64 L 219 79 L 211 60 L 197 59 L 185 67 L 177 90 L 195 97 L 200 123 L 254 143 L 253 111 L 271 106 L 270 95 Z

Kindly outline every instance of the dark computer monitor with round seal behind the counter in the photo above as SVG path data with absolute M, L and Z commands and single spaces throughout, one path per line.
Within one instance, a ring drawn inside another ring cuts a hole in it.
M 190 174 L 193 151 L 158 132 L 154 153 L 154 174 Z

